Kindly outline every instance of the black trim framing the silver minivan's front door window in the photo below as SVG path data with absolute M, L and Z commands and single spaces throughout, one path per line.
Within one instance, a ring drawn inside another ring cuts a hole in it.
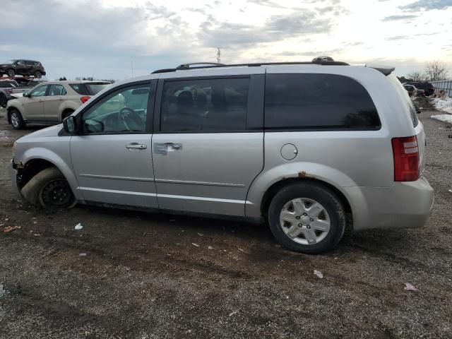
M 93 107 L 97 102 L 104 99 L 108 95 L 116 92 L 117 90 L 121 90 L 127 87 L 133 87 L 136 85 L 149 85 L 149 97 L 148 97 L 148 110 L 146 112 L 146 126 L 145 131 L 136 132 L 136 131 L 125 131 L 125 132 L 101 132 L 101 133 L 83 133 L 83 131 L 78 131 L 77 136 L 110 136 L 110 135 L 124 135 L 124 134 L 152 134 L 153 133 L 153 117 L 154 117 L 154 107 L 155 107 L 155 93 L 157 89 L 157 79 L 143 80 L 143 81 L 133 81 L 130 83 L 124 83 L 123 85 L 116 86 L 114 88 L 109 88 L 107 92 L 105 92 L 100 97 L 97 97 L 93 102 L 90 102 L 87 107 L 78 112 L 76 115 L 76 123 L 78 126 L 82 125 L 82 117 L 88 109 Z M 154 96 L 152 96 L 154 94 Z M 61 133 L 61 136 L 66 135 L 65 133 Z

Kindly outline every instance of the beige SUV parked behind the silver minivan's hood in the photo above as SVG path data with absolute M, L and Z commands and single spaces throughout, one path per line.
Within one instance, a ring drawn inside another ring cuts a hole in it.
M 58 124 L 109 85 L 105 81 L 42 83 L 23 93 L 23 97 L 8 101 L 8 123 L 15 129 L 22 129 L 28 123 Z

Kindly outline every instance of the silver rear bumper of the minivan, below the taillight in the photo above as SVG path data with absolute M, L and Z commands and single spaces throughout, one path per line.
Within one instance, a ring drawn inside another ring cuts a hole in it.
M 396 182 L 390 188 L 344 190 L 352 205 L 354 230 L 423 227 L 434 202 L 432 186 L 425 178 Z

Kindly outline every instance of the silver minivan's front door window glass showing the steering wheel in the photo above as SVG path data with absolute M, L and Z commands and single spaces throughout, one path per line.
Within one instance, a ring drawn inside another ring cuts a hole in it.
M 149 83 L 109 93 L 83 113 L 83 133 L 145 132 L 149 96 Z

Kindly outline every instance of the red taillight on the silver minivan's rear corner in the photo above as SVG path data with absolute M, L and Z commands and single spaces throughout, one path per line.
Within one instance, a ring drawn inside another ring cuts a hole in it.
M 419 178 L 417 137 L 393 138 L 394 181 L 415 182 Z

